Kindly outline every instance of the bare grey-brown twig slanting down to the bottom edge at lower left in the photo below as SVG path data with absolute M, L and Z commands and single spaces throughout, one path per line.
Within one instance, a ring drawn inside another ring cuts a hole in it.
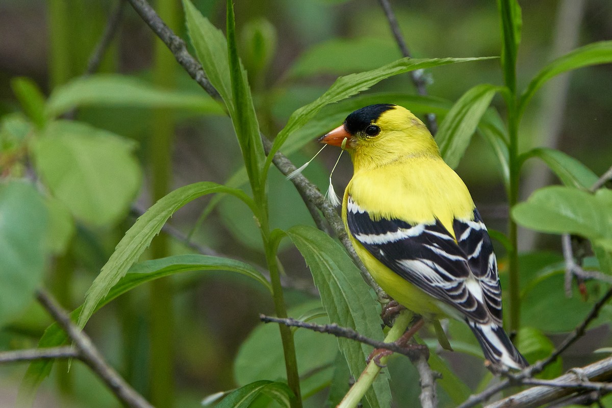
M 130 384 L 125 382 L 125 380 L 105 362 L 102 354 L 95 348 L 89 336 L 82 332 L 80 328 L 70 320 L 69 314 L 58 305 L 50 294 L 41 290 L 37 292 L 36 299 L 73 341 L 76 349 L 78 349 L 80 360 L 88 365 L 89 368 L 103 380 L 106 387 L 113 391 L 119 401 L 132 408 L 153 408 L 143 396 L 137 393 Z

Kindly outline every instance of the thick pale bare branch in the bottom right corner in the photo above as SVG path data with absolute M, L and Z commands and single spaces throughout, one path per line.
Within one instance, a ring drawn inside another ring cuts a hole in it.
M 583 390 L 612 390 L 612 384 L 604 383 L 604 381 L 612 379 L 612 357 L 605 358 L 597 363 L 581 368 L 580 373 L 580 376 L 576 373 L 564 374 L 552 381 L 524 379 L 523 382 L 528 384 L 540 382 L 547 383 L 547 385 L 529 388 L 529 390 L 494 402 L 488 405 L 487 408 L 539 407 L 547 402 L 556 401 L 559 398 L 564 398 L 576 392 L 576 388 L 581 388 Z M 588 379 L 588 381 L 580 379 L 582 376 Z

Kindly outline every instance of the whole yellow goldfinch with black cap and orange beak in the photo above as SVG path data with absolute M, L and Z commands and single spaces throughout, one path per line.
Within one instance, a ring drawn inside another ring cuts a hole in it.
M 502 327 L 487 228 L 423 122 L 401 106 L 371 105 L 319 141 L 351 154 L 342 218 L 384 291 L 430 321 L 465 320 L 494 366 L 527 366 Z

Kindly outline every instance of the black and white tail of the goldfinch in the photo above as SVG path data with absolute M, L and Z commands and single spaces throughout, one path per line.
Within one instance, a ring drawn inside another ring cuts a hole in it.
M 468 321 L 469 327 L 476 335 L 485 358 L 494 365 L 523 369 L 529 365 L 523 355 L 514 347 L 504 328 L 494 323 L 479 324 Z

